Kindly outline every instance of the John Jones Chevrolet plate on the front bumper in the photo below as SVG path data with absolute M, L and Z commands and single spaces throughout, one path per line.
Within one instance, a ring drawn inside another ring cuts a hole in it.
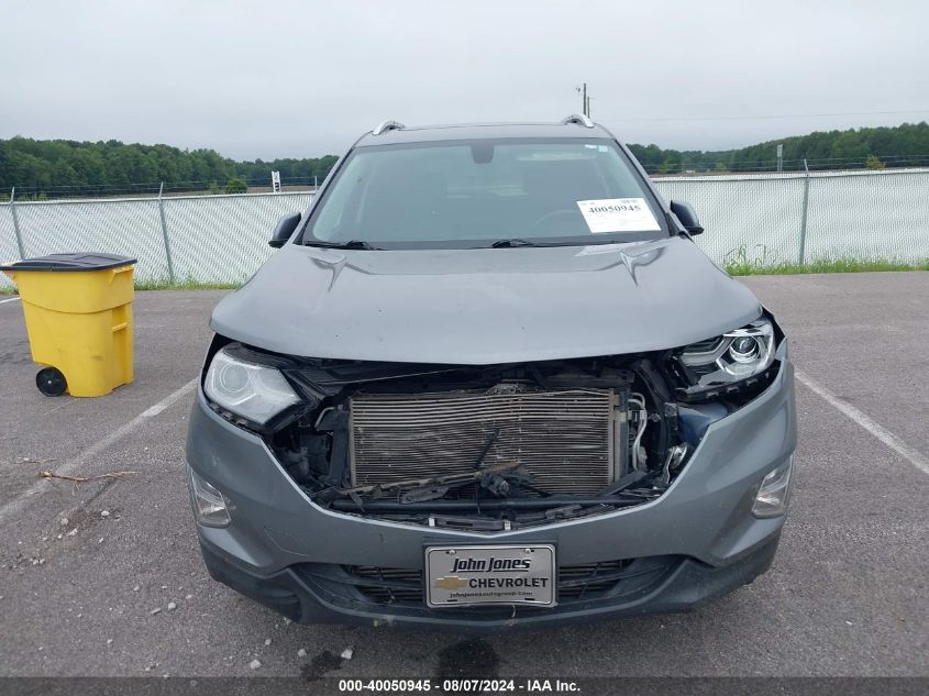
M 430 546 L 425 550 L 425 604 L 555 606 L 555 548 Z

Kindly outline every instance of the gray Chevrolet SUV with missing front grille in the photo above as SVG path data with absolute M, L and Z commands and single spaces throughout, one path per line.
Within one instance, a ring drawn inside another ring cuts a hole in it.
M 212 577 L 295 621 L 456 631 L 752 582 L 793 367 L 701 232 L 586 117 L 363 135 L 213 311 L 187 443 Z

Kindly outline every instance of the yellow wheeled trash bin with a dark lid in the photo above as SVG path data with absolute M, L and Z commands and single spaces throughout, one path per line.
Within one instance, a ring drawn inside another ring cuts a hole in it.
M 0 266 L 22 298 L 46 396 L 102 396 L 132 382 L 132 267 L 112 254 L 52 254 Z

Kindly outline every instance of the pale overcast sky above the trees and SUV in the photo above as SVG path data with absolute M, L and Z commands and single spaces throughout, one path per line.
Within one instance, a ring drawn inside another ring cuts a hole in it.
M 0 0 L 0 137 L 308 157 L 385 118 L 560 119 L 587 81 L 621 140 L 728 148 L 929 119 L 927 25 L 905 0 Z

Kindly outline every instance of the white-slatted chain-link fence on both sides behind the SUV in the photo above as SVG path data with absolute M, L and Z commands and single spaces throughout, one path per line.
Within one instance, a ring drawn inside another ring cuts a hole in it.
M 718 263 L 929 259 L 929 168 L 661 177 L 689 202 Z M 142 281 L 240 283 L 268 257 L 275 222 L 311 192 L 0 205 L 0 261 L 97 251 L 139 258 Z M 0 275 L 0 285 L 9 281 Z

